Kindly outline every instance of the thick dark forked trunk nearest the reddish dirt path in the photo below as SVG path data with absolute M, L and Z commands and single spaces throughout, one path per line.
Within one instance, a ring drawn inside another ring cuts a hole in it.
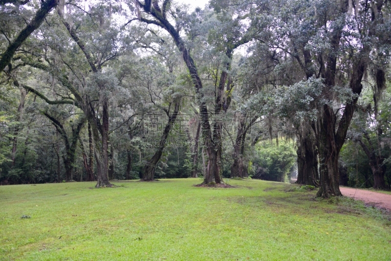
M 342 27 L 335 29 L 335 32 L 330 46 L 336 51 L 339 48 L 340 39 L 342 37 Z M 338 128 L 336 128 L 337 114 L 334 113 L 332 105 L 330 103 L 324 103 L 319 108 L 317 126 L 314 128 L 314 131 L 317 134 L 320 158 L 320 189 L 317 196 L 325 198 L 329 196 L 342 196 L 341 191 L 339 190 L 339 153 L 345 143 L 358 96 L 363 88 L 361 80 L 367 68 L 368 55 L 369 46 L 365 45 L 353 60 L 349 88 L 356 97 L 353 97 L 351 101 L 346 101 L 342 117 L 338 122 Z M 336 65 L 337 56 L 331 52 L 327 59 L 326 69 L 322 71 L 322 77 L 325 79 L 322 97 L 327 101 L 333 100 L 332 87 L 335 86 Z

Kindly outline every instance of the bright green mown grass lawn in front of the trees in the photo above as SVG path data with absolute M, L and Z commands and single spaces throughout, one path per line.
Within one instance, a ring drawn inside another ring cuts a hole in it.
M 0 187 L 0 260 L 391 260 L 391 222 L 260 180 Z M 21 218 L 22 216 L 31 218 Z

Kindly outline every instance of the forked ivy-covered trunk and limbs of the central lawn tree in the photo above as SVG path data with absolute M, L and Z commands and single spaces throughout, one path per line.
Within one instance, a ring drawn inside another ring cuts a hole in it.
M 153 4 L 152 4 L 153 3 Z M 169 22 L 168 15 L 172 13 L 173 10 L 170 10 L 171 8 L 171 1 L 165 0 L 162 4 L 162 8 L 159 7 L 159 3 L 157 0 L 146 0 L 144 3 L 140 1 L 136 1 L 136 9 L 141 8 L 143 13 L 149 15 L 152 17 L 152 20 L 146 19 L 142 16 L 141 12 L 137 12 L 138 20 L 141 22 L 146 22 L 148 24 L 154 24 L 157 25 L 163 29 L 165 29 L 170 36 L 173 38 L 175 45 L 179 49 L 179 51 L 182 54 L 183 61 L 185 62 L 190 76 L 193 81 L 193 85 L 195 88 L 195 92 L 198 95 L 198 105 L 199 105 L 199 113 L 201 117 L 201 126 L 202 126 L 202 137 L 205 143 L 206 147 L 206 153 L 208 156 L 208 167 L 207 167 L 207 173 L 204 176 L 204 182 L 203 184 L 214 184 L 214 183 L 223 183 L 222 180 L 222 170 L 221 170 L 221 121 L 215 121 L 211 124 L 210 122 L 210 116 L 208 111 L 213 111 L 211 109 L 208 110 L 207 104 L 204 101 L 204 94 L 202 92 L 203 90 L 203 84 L 200 78 L 200 74 L 198 71 L 197 66 L 195 65 L 195 61 L 190 54 L 190 49 L 186 44 L 186 41 L 180 36 L 180 30 L 182 29 L 182 26 L 186 26 L 186 24 L 180 24 L 179 21 L 176 25 L 176 27 Z M 170 10 L 170 12 L 168 12 Z M 177 16 L 180 16 L 181 18 L 185 17 L 187 14 L 185 12 L 181 12 L 180 9 L 177 9 Z M 173 18 L 175 19 L 175 15 Z M 197 17 L 195 17 L 195 21 L 197 22 Z M 239 16 L 236 21 L 237 22 L 243 19 L 241 16 Z M 133 19 L 134 20 L 134 19 Z M 184 19 L 186 21 L 186 19 Z M 239 24 L 238 24 L 239 25 Z M 239 28 L 239 26 L 238 26 Z M 234 33 L 238 32 L 241 33 L 240 30 L 236 31 L 234 30 Z M 238 35 L 237 38 L 232 38 L 230 41 L 226 42 L 223 52 L 225 53 L 226 57 L 228 58 L 228 61 L 224 64 L 223 70 L 221 71 L 220 80 L 218 87 L 216 89 L 216 96 L 215 96 L 215 108 L 214 108 L 214 115 L 219 115 L 223 111 L 224 104 L 227 105 L 226 100 L 224 99 L 224 89 L 225 86 L 227 87 L 227 90 L 229 91 L 231 88 L 231 85 L 228 80 L 228 72 L 227 70 L 230 68 L 230 60 L 232 59 L 233 51 L 240 46 L 243 43 L 248 42 L 250 39 L 247 37 L 244 37 L 243 35 Z

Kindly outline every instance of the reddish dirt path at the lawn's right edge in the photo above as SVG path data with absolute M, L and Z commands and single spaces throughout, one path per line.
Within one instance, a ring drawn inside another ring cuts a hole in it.
M 356 189 L 346 187 L 340 187 L 339 189 L 344 196 L 352 197 L 354 199 L 362 200 L 365 203 L 391 210 L 391 195 L 360 189 L 357 189 L 356 191 Z

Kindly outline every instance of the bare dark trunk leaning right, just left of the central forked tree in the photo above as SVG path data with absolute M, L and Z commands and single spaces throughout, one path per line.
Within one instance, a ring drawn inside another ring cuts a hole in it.
M 152 156 L 152 158 L 145 164 L 144 166 L 144 176 L 142 180 L 144 181 L 153 181 L 153 177 L 155 174 L 156 164 L 159 162 L 160 157 L 162 156 L 164 147 L 166 145 L 167 137 L 171 131 L 171 128 L 173 127 L 175 123 L 176 116 L 179 112 L 179 102 L 175 102 L 175 108 L 172 115 L 169 116 L 168 123 L 166 124 L 166 127 L 164 128 L 163 134 L 160 138 L 159 147 L 157 148 L 155 154 Z M 167 113 L 168 114 L 168 113 Z

